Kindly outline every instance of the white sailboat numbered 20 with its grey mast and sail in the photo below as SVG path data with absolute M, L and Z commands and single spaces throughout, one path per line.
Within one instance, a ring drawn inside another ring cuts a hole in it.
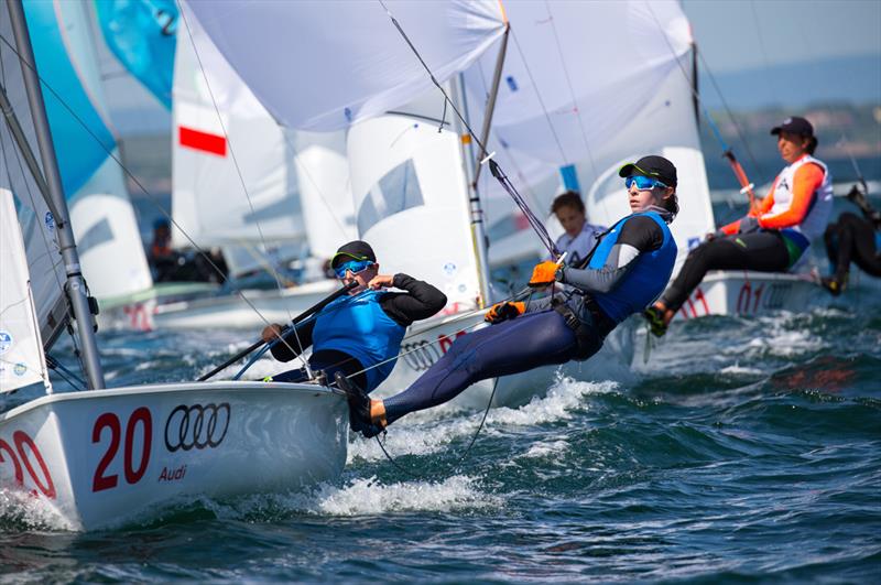
M 106 388 L 24 9 L 20 1 L 8 9 L 0 15 L 0 391 L 37 383 L 44 396 L 0 413 L 0 489 L 15 506 L 91 530 L 197 495 L 338 477 L 348 427 L 338 391 L 231 381 Z M 88 389 L 56 392 L 45 351 L 70 322 Z

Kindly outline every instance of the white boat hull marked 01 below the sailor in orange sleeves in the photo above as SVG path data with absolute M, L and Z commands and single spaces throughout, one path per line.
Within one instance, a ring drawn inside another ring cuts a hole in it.
M 776 272 L 714 271 L 683 304 L 676 317 L 757 315 L 804 310 L 817 285 L 804 275 Z

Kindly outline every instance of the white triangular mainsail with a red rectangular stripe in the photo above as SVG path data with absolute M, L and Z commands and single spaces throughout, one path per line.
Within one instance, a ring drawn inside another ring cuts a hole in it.
M 303 241 L 291 144 L 198 22 L 180 24 L 172 215 L 188 238 L 175 229 L 174 245 Z

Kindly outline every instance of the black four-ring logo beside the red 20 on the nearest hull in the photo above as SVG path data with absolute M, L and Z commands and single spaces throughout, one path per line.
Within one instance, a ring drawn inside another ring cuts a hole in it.
M 165 447 L 172 453 L 216 447 L 227 436 L 229 414 L 227 402 L 176 407 L 165 421 Z

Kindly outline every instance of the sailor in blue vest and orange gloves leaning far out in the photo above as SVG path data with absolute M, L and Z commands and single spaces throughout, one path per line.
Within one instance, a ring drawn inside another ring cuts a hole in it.
M 540 366 L 584 360 L 602 347 L 619 323 L 649 306 L 673 272 L 676 243 L 667 227 L 678 212 L 676 169 L 662 156 L 643 156 L 621 167 L 633 214 L 600 239 L 583 267 L 535 267 L 534 288 L 554 282 L 563 294 L 531 302 L 493 305 L 492 327 L 459 337 L 449 350 L 403 392 L 370 400 L 357 388 L 349 394 L 354 426 L 372 436 L 407 413 L 442 404 L 487 378 Z

